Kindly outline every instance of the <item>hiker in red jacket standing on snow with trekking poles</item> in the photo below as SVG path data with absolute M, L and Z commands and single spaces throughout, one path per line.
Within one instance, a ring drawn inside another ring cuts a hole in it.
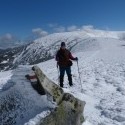
M 68 49 L 66 49 L 65 42 L 62 42 L 60 49 L 56 53 L 57 68 L 59 66 L 59 71 L 60 71 L 60 77 L 59 77 L 60 87 L 63 87 L 65 71 L 68 76 L 69 85 L 70 86 L 73 85 L 72 74 L 71 74 L 71 66 L 72 66 L 71 60 L 78 61 L 78 58 L 77 57 L 74 58 L 71 52 Z

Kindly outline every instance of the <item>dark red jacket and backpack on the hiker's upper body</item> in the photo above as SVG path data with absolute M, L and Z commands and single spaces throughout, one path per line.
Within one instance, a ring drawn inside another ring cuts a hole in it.
M 56 54 L 56 61 L 58 65 L 61 67 L 69 66 L 69 60 L 75 60 L 71 52 L 67 49 L 60 48 Z

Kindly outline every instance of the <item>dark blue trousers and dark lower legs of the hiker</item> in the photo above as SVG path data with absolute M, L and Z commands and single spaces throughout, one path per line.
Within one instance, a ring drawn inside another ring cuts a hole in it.
M 65 72 L 68 76 L 68 80 L 69 80 L 69 85 L 72 86 L 72 74 L 71 74 L 71 67 L 59 67 L 60 70 L 60 87 L 63 87 L 63 81 L 64 81 L 64 75 Z

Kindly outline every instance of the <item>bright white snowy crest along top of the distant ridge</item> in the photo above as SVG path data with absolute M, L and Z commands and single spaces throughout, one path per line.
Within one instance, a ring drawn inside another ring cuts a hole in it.
M 55 41 L 69 38 L 69 41 L 74 38 L 85 38 L 85 37 L 104 37 L 104 38 L 119 38 L 120 34 L 125 33 L 124 31 L 104 31 L 104 30 L 83 30 L 73 31 L 64 33 L 54 33 L 43 38 L 35 40 L 36 43 L 41 43 L 43 46 L 54 44 Z M 65 41 L 68 42 L 68 41 Z

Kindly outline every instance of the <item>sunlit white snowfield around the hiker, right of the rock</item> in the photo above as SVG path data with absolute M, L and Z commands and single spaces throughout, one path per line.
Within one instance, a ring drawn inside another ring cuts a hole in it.
M 125 41 L 98 38 L 80 43 L 72 49 L 79 58 L 72 66 L 73 87 L 65 76 L 64 91 L 86 101 L 83 125 L 125 125 Z M 86 47 L 85 47 L 86 46 Z M 77 50 L 83 50 L 77 52 Z M 86 48 L 86 49 L 84 49 Z M 92 49 L 94 48 L 94 49 Z M 55 60 L 38 64 L 46 75 L 58 84 Z M 66 88 L 65 88 L 66 87 Z

